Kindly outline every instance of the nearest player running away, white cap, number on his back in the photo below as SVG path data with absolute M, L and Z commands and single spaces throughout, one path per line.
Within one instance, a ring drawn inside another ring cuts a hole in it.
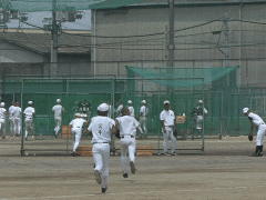
M 88 133 L 92 134 L 94 176 L 96 182 L 102 184 L 102 192 L 108 190 L 109 163 L 110 163 L 110 142 L 114 131 L 114 120 L 108 118 L 109 106 L 102 103 L 98 107 L 98 117 L 92 118 L 88 128 Z M 102 172 L 102 176 L 101 176 Z

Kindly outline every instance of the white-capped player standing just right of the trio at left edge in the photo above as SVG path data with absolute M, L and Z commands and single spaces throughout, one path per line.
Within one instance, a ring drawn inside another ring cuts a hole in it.
M 25 123 L 25 136 L 24 140 L 28 140 L 28 133 L 33 128 L 33 118 L 35 116 L 35 109 L 32 107 L 33 102 L 29 101 L 28 107 L 24 109 L 24 123 Z

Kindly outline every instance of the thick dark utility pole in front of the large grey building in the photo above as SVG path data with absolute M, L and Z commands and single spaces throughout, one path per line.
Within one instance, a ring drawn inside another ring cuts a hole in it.
M 170 33 L 168 33 L 168 67 L 174 67 L 174 0 L 168 0 L 170 6 Z

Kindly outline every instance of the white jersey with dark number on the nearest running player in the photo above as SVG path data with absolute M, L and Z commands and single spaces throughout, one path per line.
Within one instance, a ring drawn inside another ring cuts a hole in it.
M 114 120 L 98 116 L 92 118 L 92 122 L 89 126 L 88 130 L 92 132 L 92 143 L 101 143 L 101 142 L 110 142 L 111 141 L 111 132 L 114 127 Z

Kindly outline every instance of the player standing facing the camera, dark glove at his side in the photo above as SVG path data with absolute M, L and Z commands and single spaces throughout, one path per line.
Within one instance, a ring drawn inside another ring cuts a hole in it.
M 176 129 L 175 114 L 170 110 L 170 101 L 164 101 L 164 110 L 160 114 L 160 120 L 162 121 L 163 127 L 163 148 L 164 154 L 170 156 L 167 152 L 168 139 L 172 140 L 172 156 L 175 156 L 176 138 L 173 134 L 173 128 Z

